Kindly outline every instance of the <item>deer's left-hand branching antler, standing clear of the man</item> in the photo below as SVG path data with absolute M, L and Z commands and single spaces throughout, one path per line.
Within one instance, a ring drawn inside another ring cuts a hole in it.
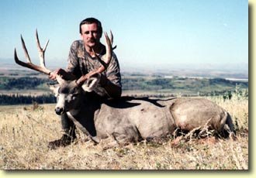
M 23 47 L 23 50 L 25 52 L 25 56 L 26 56 L 26 59 L 27 59 L 27 63 L 24 63 L 21 60 L 19 60 L 19 58 L 17 56 L 17 53 L 16 53 L 16 49 L 14 49 L 14 59 L 15 59 L 16 63 L 19 64 L 22 67 L 27 67 L 29 69 L 36 70 L 36 71 L 39 71 L 43 74 L 49 75 L 51 73 L 51 71 L 49 69 L 47 69 L 47 67 L 45 67 L 45 61 L 44 61 L 44 53 L 45 53 L 45 50 L 47 50 L 47 45 L 49 43 L 49 39 L 47 40 L 46 45 L 42 49 L 41 46 L 40 46 L 40 41 L 38 39 L 38 33 L 37 33 L 37 30 L 36 30 L 36 44 L 37 44 L 37 49 L 38 49 L 39 56 L 40 56 L 40 66 L 37 66 L 37 65 L 35 65 L 31 62 L 30 57 L 29 57 L 29 53 L 26 50 L 26 45 L 25 45 L 25 42 L 24 42 L 22 36 L 21 36 L 21 41 L 22 41 L 22 47 Z

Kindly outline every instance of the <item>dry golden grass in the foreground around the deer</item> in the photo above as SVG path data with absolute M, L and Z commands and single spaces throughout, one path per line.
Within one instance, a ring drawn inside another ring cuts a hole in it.
M 49 141 L 61 137 L 54 104 L 0 107 L 0 169 L 248 169 L 248 101 L 212 98 L 230 112 L 237 140 L 184 139 L 109 147 L 106 139 L 56 150 Z

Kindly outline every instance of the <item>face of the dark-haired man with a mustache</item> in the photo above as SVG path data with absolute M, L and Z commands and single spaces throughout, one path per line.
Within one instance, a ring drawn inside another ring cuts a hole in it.
M 100 37 L 97 24 L 92 23 L 81 26 L 81 39 L 83 39 L 85 46 L 94 47 L 99 44 Z

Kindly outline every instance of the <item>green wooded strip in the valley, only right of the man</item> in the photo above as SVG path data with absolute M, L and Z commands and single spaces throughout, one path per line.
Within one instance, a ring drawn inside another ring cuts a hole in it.
M 124 91 L 144 90 L 144 91 L 156 91 L 156 90 L 174 90 L 181 91 L 193 91 L 197 93 L 211 92 L 211 91 L 227 91 L 230 88 L 234 88 L 238 85 L 242 88 L 247 88 L 247 82 L 231 81 L 223 78 L 186 78 L 186 77 L 174 77 L 163 78 L 157 77 L 153 79 L 147 79 L 145 77 L 126 78 L 122 79 L 122 86 Z

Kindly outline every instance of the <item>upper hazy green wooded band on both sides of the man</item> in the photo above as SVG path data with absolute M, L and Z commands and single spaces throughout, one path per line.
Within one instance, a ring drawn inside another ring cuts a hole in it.
M 39 78 L 39 77 L 0 77 L 0 90 L 12 90 L 12 89 L 36 89 L 40 86 L 40 89 L 47 89 L 47 84 L 53 83 L 53 80 Z M 190 91 L 203 91 L 207 87 L 211 87 L 216 90 L 217 87 L 222 87 L 220 89 L 234 88 L 239 84 L 240 87 L 247 88 L 247 82 L 230 81 L 222 78 L 213 79 L 192 79 L 183 77 L 174 78 L 163 78 L 155 77 L 148 79 L 147 77 L 136 77 L 127 78 L 123 77 L 122 85 L 123 91 L 156 91 L 163 89 L 188 89 Z M 212 91 L 213 91 L 212 90 Z M 220 90 L 219 90 L 220 91 Z

